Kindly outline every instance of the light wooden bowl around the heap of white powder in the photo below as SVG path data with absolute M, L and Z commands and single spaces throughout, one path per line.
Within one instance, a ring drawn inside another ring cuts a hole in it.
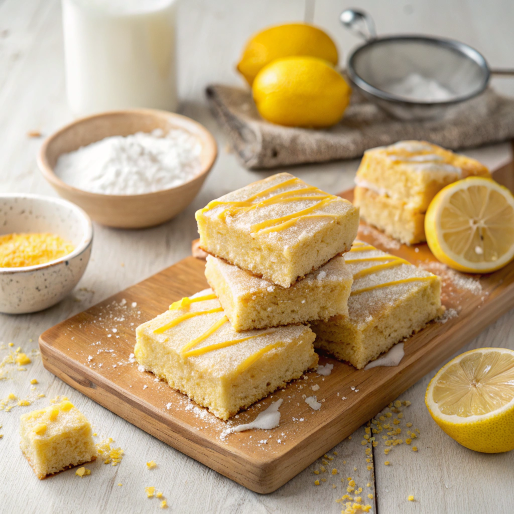
M 112 195 L 83 191 L 63 182 L 53 171 L 61 154 L 109 136 L 128 136 L 161 128 L 182 128 L 202 145 L 201 170 L 180 186 L 152 193 Z M 108 227 L 143 228 L 159 225 L 183 211 L 196 196 L 217 156 L 212 134 L 186 116 L 154 109 L 127 109 L 81 118 L 48 137 L 38 155 L 43 176 L 60 196 L 82 207 L 96 222 Z

